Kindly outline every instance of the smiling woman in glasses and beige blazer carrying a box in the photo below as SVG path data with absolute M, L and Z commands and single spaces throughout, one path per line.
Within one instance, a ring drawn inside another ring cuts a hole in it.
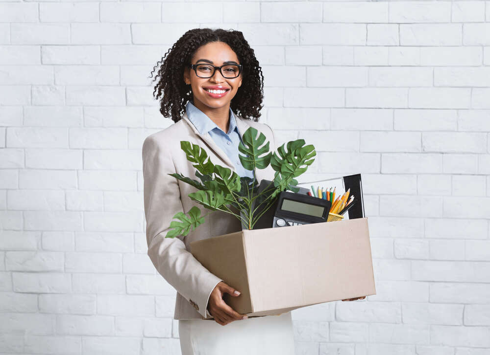
M 273 178 L 270 168 L 247 171 L 239 160 L 238 144 L 250 126 L 275 147 L 270 127 L 256 122 L 262 108 L 263 75 L 254 52 L 239 31 L 193 29 L 157 67 L 154 94 L 160 98 L 162 115 L 171 116 L 175 124 L 151 134 L 143 144 L 148 255 L 178 292 L 174 318 L 179 319 L 182 354 L 293 355 L 290 312 L 247 319 L 222 298 L 224 293 L 239 297 L 240 290 L 226 285 L 189 252 L 193 241 L 241 230 L 240 221 L 216 211 L 185 238 L 165 238 L 175 213 L 199 206 L 188 197 L 194 188 L 168 175 L 195 175 L 180 141 L 198 144 L 211 161 L 240 176 L 255 174 L 259 182 Z M 209 317 L 214 321 L 203 319 Z

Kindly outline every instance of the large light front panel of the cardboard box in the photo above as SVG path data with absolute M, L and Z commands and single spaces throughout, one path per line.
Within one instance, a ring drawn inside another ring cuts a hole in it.
M 366 218 L 244 231 L 253 311 L 375 294 Z

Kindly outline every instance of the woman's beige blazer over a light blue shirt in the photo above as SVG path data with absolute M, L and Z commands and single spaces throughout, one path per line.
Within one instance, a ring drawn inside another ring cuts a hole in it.
M 269 126 L 237 117 L 237 127 L 241 135 L 250 126 L 264 133 L 270 141 L 270 149 L 275 149 L 274 134 Z M 211 291 L 222 280 L 192 256 L 190 244 L 239 231 L 241 223 L 232 215 L 215 211 L 186 237 L 165 238 L 172 217 L 177 212 L 188 212 L 193 206 L 199 207 L 201 214 L 209 212 L 188 197 L 189 193 L 196 191 L 194 187 L 168 175 L 178 173 L 197 179 L 195 168 L 180 149 L 181 140 L 204 148 L 214 164 L 235 172 L 236 169 L 209 133 L 200 134 L 186 114 L 182 120 L 167 129 L 149 135 L 143 143 L 148 256 L 158 272 L 177 290 L 174 319 L 201 319 L 210 316 L 206 312 L 208 299 Z M 256 171 L 259 182 L 262 178 L 272 179 L 273 176 L 274 172 L 270 167 Z

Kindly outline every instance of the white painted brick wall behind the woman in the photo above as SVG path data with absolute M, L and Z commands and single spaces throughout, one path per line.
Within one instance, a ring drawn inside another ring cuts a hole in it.
M 305 178 L 363 174 L 377 294 L 294 311 L 296 354 L 488 355 L 484 0 L 0 2 L 0 353 L 180 354 L 141 146 L 171 124 L 147 76 L 204 26 L 244 32 Z

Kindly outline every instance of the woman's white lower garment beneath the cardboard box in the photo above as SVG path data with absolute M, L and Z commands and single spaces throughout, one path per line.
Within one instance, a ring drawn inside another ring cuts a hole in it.
M 179 321 L 182 355 L 294 355 L 291 312 L 221 326 L 214 320 Z

